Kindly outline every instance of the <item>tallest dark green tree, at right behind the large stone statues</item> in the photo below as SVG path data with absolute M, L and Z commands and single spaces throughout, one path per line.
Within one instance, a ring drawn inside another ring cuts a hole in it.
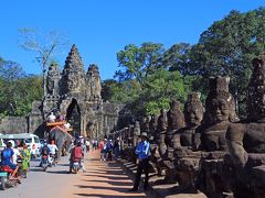
M 190 70 L 202 76 L 230 76 L 231 91 L 239 101 L 239 112 L 245 114 L 244 101 L 253 57 L 265 50 L 265 9 L 241 13 L 231 11 L 204 31 L 190 52 Z M 203 89 L 203 88 L 202 88 Z

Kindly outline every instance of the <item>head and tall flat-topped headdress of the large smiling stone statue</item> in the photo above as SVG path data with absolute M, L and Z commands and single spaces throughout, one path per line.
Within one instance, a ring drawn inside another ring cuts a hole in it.
M 210 78 L 210 92 L 205 102 L 205 122 L 218 123 L 236 119 L 235 102 L 229 91 L 229 77 Z

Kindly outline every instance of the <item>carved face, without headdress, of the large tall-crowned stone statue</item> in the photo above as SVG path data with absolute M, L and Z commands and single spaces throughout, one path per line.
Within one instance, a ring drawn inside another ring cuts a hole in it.
M 212 99 L 209 105 L 209 118 L 214 122 L 223 122 L 230 118 L 230 105 L 225 99 Z

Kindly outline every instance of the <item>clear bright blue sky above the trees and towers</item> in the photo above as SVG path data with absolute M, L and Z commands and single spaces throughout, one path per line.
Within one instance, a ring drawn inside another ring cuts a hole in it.
M 20 63 L 28 74 L 41 74 L 34 54 L 18 46 L 18 30 L 55 30 L 77 45 L 86 69 L 95 63 L 107 79 L 118 69 L 116 53 L 127 44 L 194 44 L 232 9 L 264 6 L 263 0 L 2 0 L 0 56 Z M 61 66 L 68 51 L 57 57 Z

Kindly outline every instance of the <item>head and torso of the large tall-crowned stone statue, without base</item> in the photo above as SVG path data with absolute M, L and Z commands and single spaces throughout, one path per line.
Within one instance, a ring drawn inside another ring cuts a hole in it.
M 205 101 L 203 125 L 201 133 L 202 150 L 225 151 L 225 132 L 231 122 L 236 121 L 235 101 L 229 92 L 229 77 L 210 78 L 210 92 Z

